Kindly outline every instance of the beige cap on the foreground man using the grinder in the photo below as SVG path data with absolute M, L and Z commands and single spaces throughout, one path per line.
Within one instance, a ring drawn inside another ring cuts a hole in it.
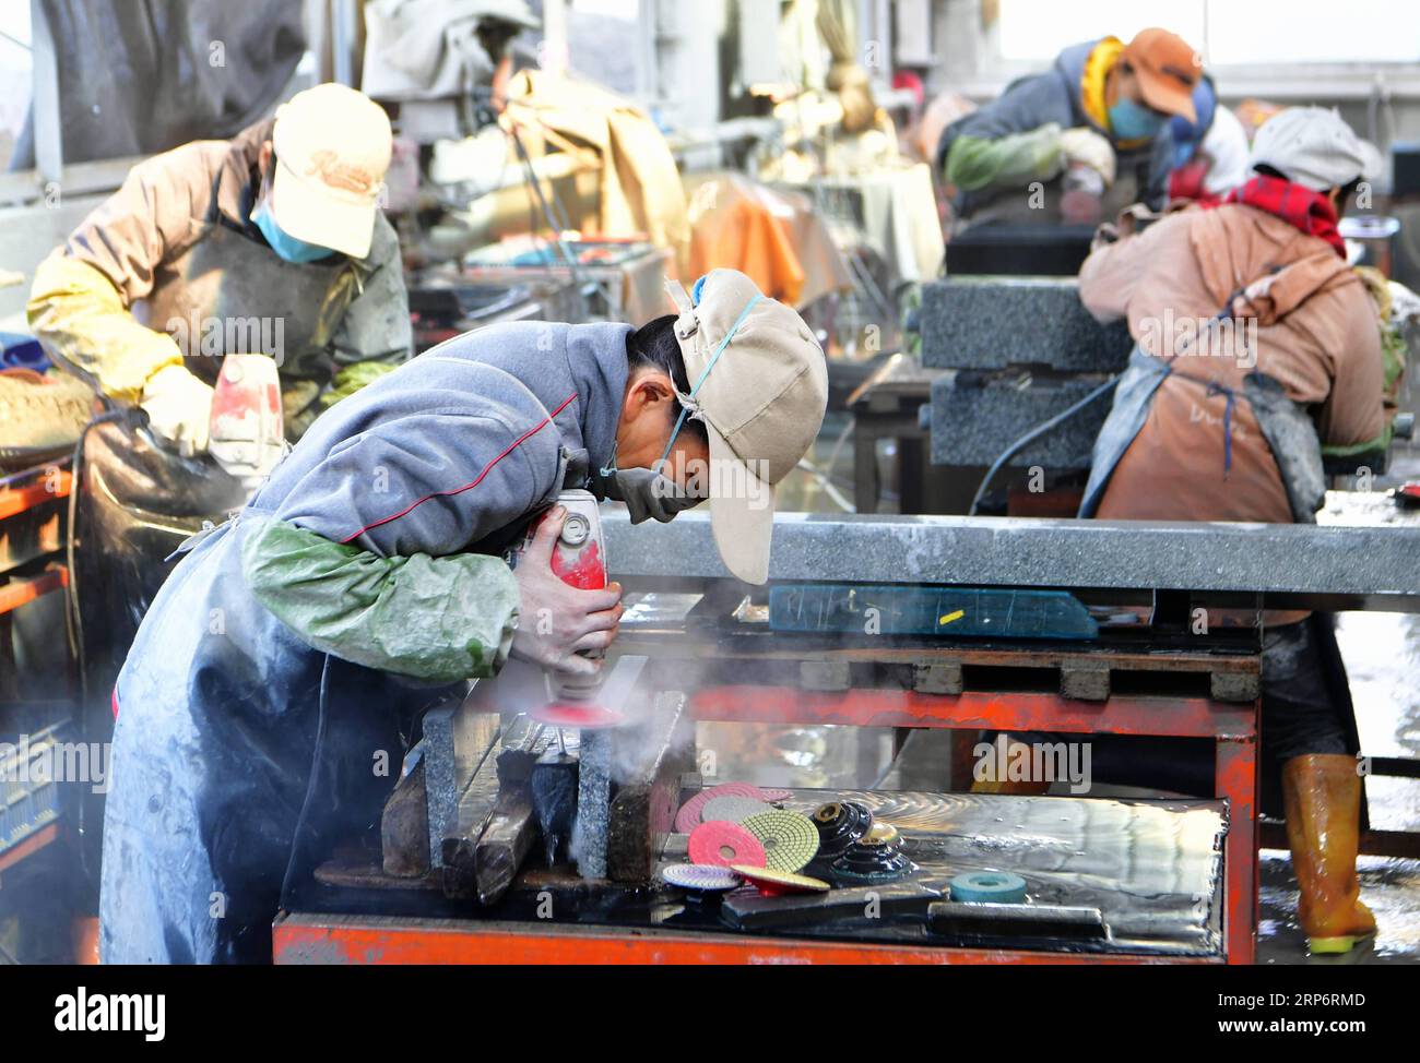
M 677 301 L 676 338 L 692 392 L 680 402 L 710 437 L 716 546 L 738 579 L 763 583 L 774 485 L 814 446 L 828 409 L 828 363 L 804 319 L 743 272 L 714 270 L 696 282 L 696 305 L 683 291 Z

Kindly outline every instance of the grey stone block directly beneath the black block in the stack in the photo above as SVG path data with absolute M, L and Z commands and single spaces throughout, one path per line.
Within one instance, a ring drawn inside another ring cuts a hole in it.
M 1112 373 L 1133 342 L 1100 325 L 1074 278 L 956 277 L 922 285 L 922 362 L 941 369 L 1049 366 Z

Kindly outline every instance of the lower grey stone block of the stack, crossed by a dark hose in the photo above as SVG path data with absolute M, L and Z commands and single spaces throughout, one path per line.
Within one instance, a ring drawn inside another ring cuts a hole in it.
M 939 466 L 990 466 L 1025 433 L 1083 399 L 1096 378 L 1031 380 L 943 378 L 932 385 L 932 461 Z M 1052 471 L 1089 468 L 1095 437 L 1109 414 L 1103 395 L 1051 433 L 1027 446 L 1010 466 Z

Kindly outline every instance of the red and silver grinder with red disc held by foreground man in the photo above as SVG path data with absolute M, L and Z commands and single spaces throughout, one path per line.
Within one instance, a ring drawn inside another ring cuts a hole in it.
M 557 502 L 567 510 L 567 519 L 562 522 L 562 532 L 552 548 L 552 572 L 564 583 L 574 588 L 582 590 L 604 589 L 608 583 L 606 549 L 602 539 L 602 519 L 596 508 L 596 497 L 591 491 L 572 490 L 562 491 Z M 548 518 L 544 517 L 542 519 Z M 508 565 L 511 568 L 518 566 L 540 524 L 541 521 L 528 528 L 527 538 L 508 555 Z M 595 659 L 602 657 L 604 653 L 595 651 L 585 656 Z M 615 727 L 622 722 L 622 714 L 598 705 L 594 701 L 601 685 L 601 674 L 586 678 L 561 678 L 554 691 L 552 701 L 528 712 L 528 715 L 540 724 L 550 724 L 559 728 L 591 729 Z

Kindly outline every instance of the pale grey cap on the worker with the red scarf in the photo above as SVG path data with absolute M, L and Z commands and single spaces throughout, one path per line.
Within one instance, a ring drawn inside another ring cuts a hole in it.
M 1379 153 L 1367 148 L 1335 109 L 1289 106 L 1257 131 L 1248 167 L 1271 166 L 1304 187 L 1326 192 L 1379 176 Z

